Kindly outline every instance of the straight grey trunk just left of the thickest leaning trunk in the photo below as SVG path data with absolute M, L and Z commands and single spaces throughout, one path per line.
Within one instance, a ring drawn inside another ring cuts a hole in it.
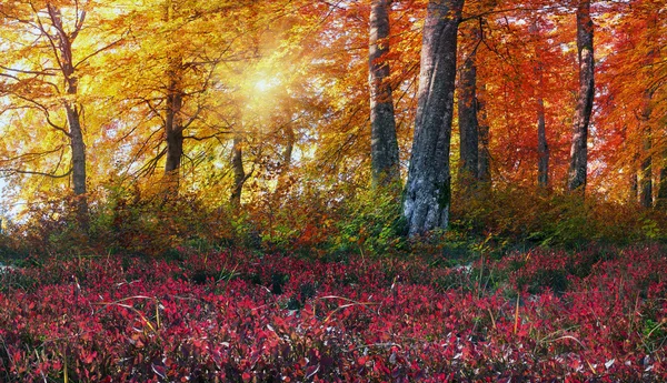
M 374 185 L 398 183 L 398 141 L 389 79 L 389 0 L 372 0 L 370 9 L 370 153 Z

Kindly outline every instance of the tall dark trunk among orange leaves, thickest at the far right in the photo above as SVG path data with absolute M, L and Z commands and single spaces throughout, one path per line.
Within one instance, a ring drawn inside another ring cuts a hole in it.
M 595 62 L 593 56 L 593 20 L 590 1 L 580 0 L 577 7 L 577 49 L 579 57 L 579 94 L 573 127 L 568 189 L 586 189 L 588 167 L 588 123 L 595 95 Z

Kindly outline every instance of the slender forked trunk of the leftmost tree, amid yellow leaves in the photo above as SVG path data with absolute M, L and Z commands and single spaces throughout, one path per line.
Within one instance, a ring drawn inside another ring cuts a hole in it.
M 72 54 L 72 42 L 77 38 L 83 20 L 86 19 L 86 12 L 78 14 L 77 27 L 73 32 L 66 32 L 62 24 L 62 16 L 60 10 L 48 4 L 49 18 L 53 29 L 56 30 L 56 37 L 58 41 L 58 51 L 60 57 L 60 68 L 66 82 L 66 93 L 70 97 L 64 102 L 64 110 L 67 114 L 67 123 L 69 128 L 69 141 L 70 149 L 72 151 L 72 184 L 74 195 L 77 196 L 77 218 L 82 231 L 88 231 L 88 199 L 87 193 L 87 174 L 86 174 L 86 142 L 83 140 L 83 129 L 81 127 L 81 115 L 79 112 L 79 105 L 76 99 L 78 94 L 78 78 L 74 73 L 74 62 Z

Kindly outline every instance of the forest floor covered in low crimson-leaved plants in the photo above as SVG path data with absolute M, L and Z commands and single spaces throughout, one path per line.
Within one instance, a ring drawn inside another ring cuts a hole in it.
M 3 382 L 665 382 L 659 246 L 0 272 Z

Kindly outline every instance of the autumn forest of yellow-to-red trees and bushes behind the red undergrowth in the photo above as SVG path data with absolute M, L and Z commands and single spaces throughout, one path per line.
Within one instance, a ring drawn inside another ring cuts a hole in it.
M 664 240 L 665 12 L 3 2 L 3 245 L 323 255 L 424 235 L 501 252 Z

